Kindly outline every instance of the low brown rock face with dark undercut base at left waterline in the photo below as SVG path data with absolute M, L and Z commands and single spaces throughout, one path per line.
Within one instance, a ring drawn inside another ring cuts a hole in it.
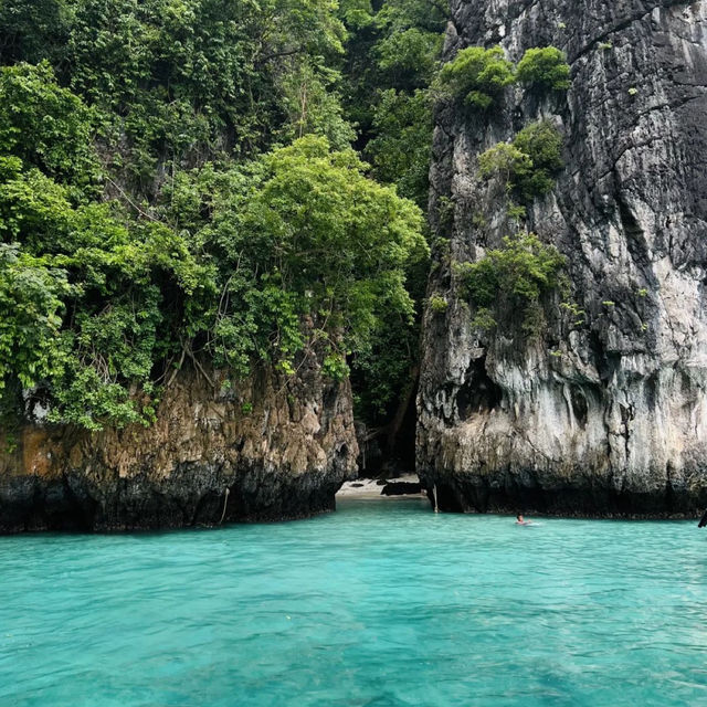
M 0 455 L 0 531 L 212 525 L 224 505 L 224 521 L 331 510 L 356 474 L 348 383 L 325 380 L 316 360 L 295 380 L 260 370 L 236 390 L 210 379 L 177 378 L 150 428 L 21 425 Z

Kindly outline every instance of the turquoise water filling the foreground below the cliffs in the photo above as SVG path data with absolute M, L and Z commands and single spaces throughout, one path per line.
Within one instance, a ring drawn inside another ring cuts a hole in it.
M 0 538 L 0 705 L 705 705 L 694 523 L 435 516 Z

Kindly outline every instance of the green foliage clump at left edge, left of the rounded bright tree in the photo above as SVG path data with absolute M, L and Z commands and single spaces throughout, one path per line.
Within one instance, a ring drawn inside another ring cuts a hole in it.
M 182 236 L 89 200 L 85 109 L 46 66 L 19 65 L 2 78 L 22 105 L 2 106 L 0 383 L 38 387 L 53 420 L 89 429 L 147 422 L 149 394 L 138 401 L 128 390 L 147 393 L 156 361 L 180 335 L 170 305 L 193 292 L 204 267 Z

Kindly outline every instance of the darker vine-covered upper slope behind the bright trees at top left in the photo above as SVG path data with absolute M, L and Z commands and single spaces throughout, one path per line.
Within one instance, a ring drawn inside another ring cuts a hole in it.
M 3 57 L 49 60 L 93 107 L 114 179 L 149 198 L 166 163 L 252 156 L 307 131 L 352 136 L 334 88 L 346 36 L 336 0 L 28 4 L 2 3 Z

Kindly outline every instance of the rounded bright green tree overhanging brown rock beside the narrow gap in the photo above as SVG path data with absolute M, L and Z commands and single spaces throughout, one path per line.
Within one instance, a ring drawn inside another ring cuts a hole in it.
M 214 204 L 202 238 L 223 254 L 226 272 L 251 274 L 258 294 L 249 310 L 261 313 L 261 340 L 274 342 L 284 361 L 306 336 L 342 360 L 368 346 L 384 312 L 412 314 L 404 277 L 407 264 L 426 254 L 421 215 L 365 169 L 352 150 L 306 137 L 233 175 Z M 299 326 L 304 315 L 314 331 Z M 234 330 L 247 314 L 221 317 Z M 217 347 L 228 358 L 229 345 Z

